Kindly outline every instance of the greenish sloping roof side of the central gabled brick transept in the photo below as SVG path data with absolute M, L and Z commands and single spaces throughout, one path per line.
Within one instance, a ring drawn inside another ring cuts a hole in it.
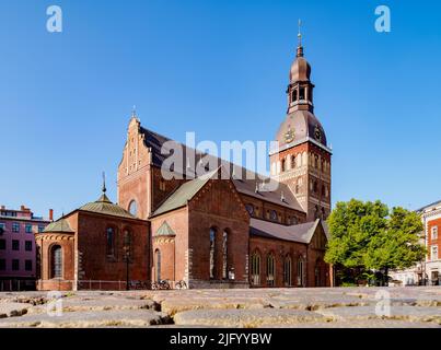
M 156 209 L 152 217 L 162 214 L 164 212 L 185 207 L 210 178 L 218 172 L 218 170 L 205 175 L 204 177 L 197 177 L 187 183 L 181 185 L 162 205 Z

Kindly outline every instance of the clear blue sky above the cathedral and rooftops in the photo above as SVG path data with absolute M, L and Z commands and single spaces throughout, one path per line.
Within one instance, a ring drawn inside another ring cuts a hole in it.
M 46 9 L 63 32 L 46 31 Z M 374 30 L 390 5 L 392 32 Z M 270 141 L 285 118 L 301 18 L 315 114 L 333 145 L 333 202 L 441 199 L 439 1 L 0 3 L 0 203 L 56 217 L 96 199 L 132 105 L 179 141 Z

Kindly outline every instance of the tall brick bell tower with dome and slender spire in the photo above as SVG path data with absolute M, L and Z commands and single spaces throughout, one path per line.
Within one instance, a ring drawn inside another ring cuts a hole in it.
M 299 21 L 299 44 L 287 89 L 287 116 L 276 135 L 279 148 L 269 154 L 271 177 L 287 184 L 307 221 L 330 213 L 330 158 L 326 133 L 314 115 L 311 66 L 303 55 Z

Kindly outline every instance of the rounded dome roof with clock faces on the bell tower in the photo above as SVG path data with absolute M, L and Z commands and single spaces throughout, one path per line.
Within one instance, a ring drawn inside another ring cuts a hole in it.
M 307 138 L 327 147 L 326 133 L 318 119 L 309 110 L 298 109 L 287 115 L 276 135 L 280 145 Z

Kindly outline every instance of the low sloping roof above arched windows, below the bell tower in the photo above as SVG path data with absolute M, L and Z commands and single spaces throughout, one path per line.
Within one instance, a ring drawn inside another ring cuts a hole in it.
M 266 238 L 278 238 L 309 244 L 321 222 L 322 221 L 317 219 L 312 222 L 287 226 L 276 222 L 252 218 L 249 221 L 249 234 Z M 327 230 L 325 230 L 325 234 L 328 237 Z

